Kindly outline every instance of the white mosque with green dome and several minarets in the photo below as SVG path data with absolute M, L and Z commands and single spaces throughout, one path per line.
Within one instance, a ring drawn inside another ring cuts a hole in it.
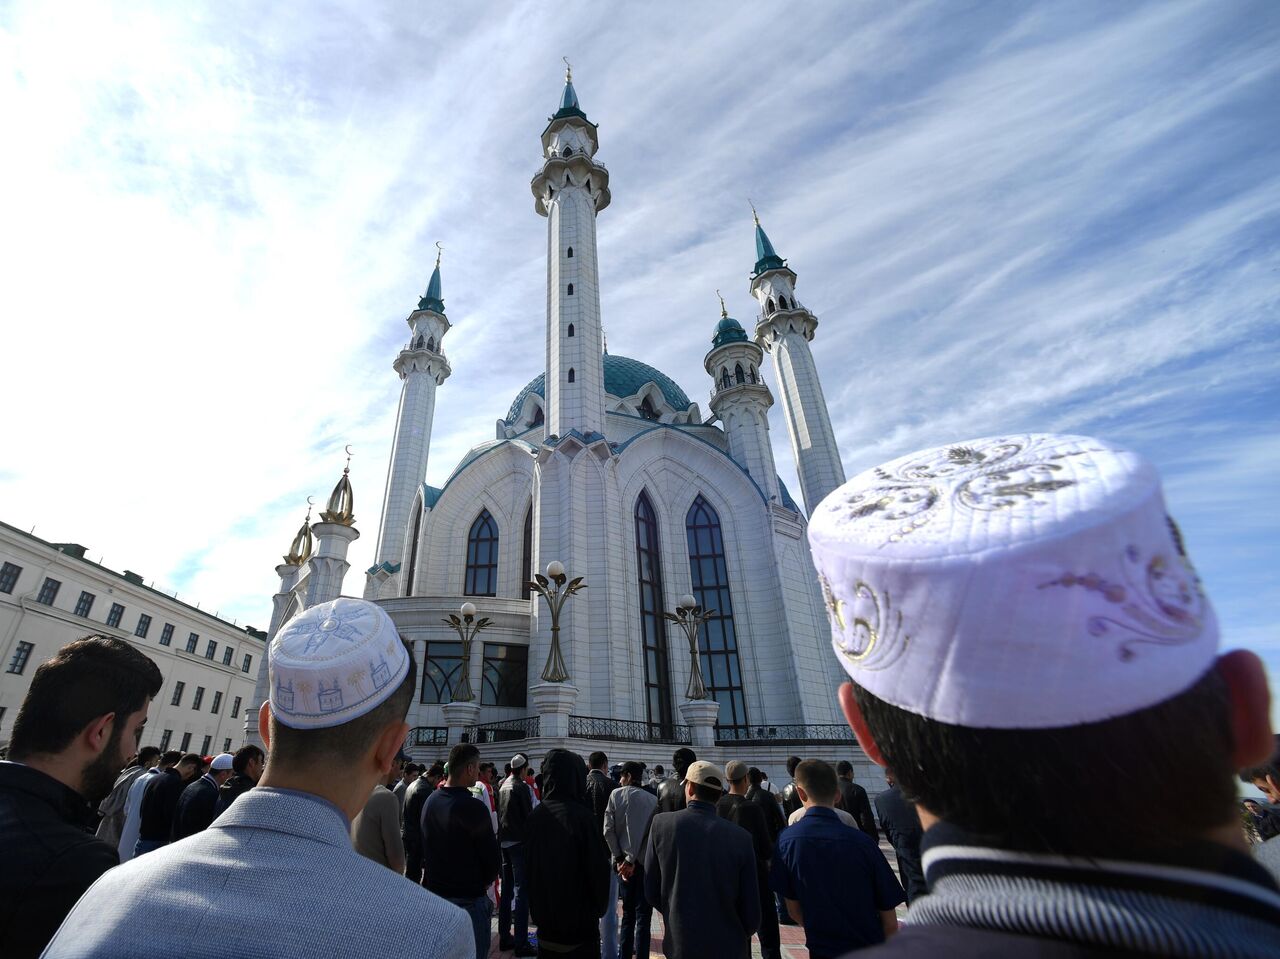
M 442 487 L 424 481 L 435 393 L 452 374 L 439 259 L 407 318 L 376 562 L 364 584 L 417 658 L 407 749 L 434 758 L 467 737 L 503 752 L 526 741 L 534 755 L 613 743 L 611 755 L 663 762 L 690 743 L 710 758 L 750 744 L 774 764 L 792 752 L 863 759 L 836 705 L 844 673 L 805 536 L 806 512 L 845 479 L 810 352 L 818 320 L 756 219 L 750 291 L 760 312 L 754 335 L 723 309 L 708 323 L 708 415 L 659 370 L 608 353 L 595 220 L 612 197 L 598 149 L 567 76 L 531 182 L 547 218 L 545 373 Z M 765 353 L 804 510 L 773 463 Z M 353 524 L 344 472 L 276 567 L 273 636 L 298 609 L 343 592 Z M 530 588 L 550 563 L 585 583 L 562 597 L 558 630 Z M 690 686 L 686 630 L 663 616 L 685 597 L 704 620 L 705 698 Z M 463 604 L 475 607 L 472 627 L 486 620 L 474 641 L 466 622 L 462 633 L 448 622 Z M 266 684 L 264 657 L 257 703 Z

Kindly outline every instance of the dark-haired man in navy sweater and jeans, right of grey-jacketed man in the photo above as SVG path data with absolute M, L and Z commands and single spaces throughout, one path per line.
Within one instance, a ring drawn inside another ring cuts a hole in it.
M 458 743 L 449 750 L 449 777 L 422 808 L 422 885 L 466 910 L 476 959 L 489 955 L 488 890 L 502 869 L 489 809 L 471 794 L 480 773 L 480 750 Z

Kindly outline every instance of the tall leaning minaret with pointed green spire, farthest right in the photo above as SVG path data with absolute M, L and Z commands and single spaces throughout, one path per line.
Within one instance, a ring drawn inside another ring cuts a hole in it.
M 755 207 L 751 214 L 755 215 Z M 760 218 L 755 216 L 751 296 L 760 302 L 755 342 L 773 353 L 804 506 L 812 515 L 822 498 L 845 481 L 845 467 L 840 463 L 836 433 L 831 429 L 818 367 L 809 351 L 818 318 L 796 301 L 795 283 L 796 274 L 774 252 Z

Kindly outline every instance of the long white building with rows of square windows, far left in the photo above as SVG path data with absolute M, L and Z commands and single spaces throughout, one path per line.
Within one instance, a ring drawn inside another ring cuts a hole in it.
M 0 522 L 0 745 L 8 744 L 36 668 L 90 634 L 128 640 L 160 667 L 142 745 L 202 755 L 244 744 L 266 634 L 151 589 L 142 576 L 84 558 Z

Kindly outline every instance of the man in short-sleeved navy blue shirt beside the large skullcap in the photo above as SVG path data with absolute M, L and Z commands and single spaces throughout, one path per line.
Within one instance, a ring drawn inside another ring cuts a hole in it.
M 836 818 L 836 771 L 805 759 L 795 771 L 804 818 L 782 831 L 769 882 L 804 926 L 812 959 L 833 959 L 883 942 L 897 931 L 905 901 L 884 854 L 865 834 Z

